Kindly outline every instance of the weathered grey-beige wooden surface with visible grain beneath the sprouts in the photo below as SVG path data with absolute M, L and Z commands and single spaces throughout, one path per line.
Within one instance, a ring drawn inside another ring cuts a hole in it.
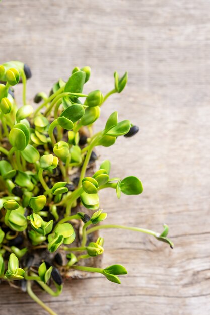
M 141 128 L 100 148 L 112 175 L 136 175 L 144 192 L 101 193 L 107 222 L 162 231 L 174 250 L 140 233 L 104 230 L 103 266 L 121 263 L 116 285 L 98 275 L 73 280 L 58 298 L 40 294 L 59 315 L 207 315 L 210 312 L 210 3 L 200 0 L 3 0 L 1 62 L 28 63 L 28 99 L 50 89 L 75 66 L 90 65 L 86 90 L 113 87 L 113 71 L 129 71 L 126 90 L 103 108 Z M 45 312 L 23 293 L 0 288 L 1 315 Z

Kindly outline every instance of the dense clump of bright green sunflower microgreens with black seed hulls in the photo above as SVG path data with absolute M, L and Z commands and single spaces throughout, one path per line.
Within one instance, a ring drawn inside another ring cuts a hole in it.
M 98 272 L 115 283 L 120 283 L 119 275 L 127 273 L 121 265 L 105 269 L 89 266 L 88 258 L 104 253 L 104 239 L 96 239 L 95 231 L 120 228 L 142 232 L 173 247 L 166 224 L 162 233 L 99 224 L 107 217 L 99 210 L 100 190 L 112 188 L 120 198 L 121 193 L 139 195 L 143 187 L 135 176 L 111 177 L 109 160 L 98 170 L 87 172 L 97 159 L 95 147 L 110 147 L 118 137 L 130 138 L 139 130 L 129 120 L 118 119 L 114 111 L 94 134 L 93 123 L 104 102 L 123 91 L 128 76 L 127 72 L 122 76 L 115 72 L 111 91 L 102 94 L 95 89 L 84 94 L 90 75 L 90 67 L 75 67 L 67 80 L 60 78 L 52 86 L 49 95 L 35 95 L 38 105 L 34 109 L 26 101 L 30 68 L 19 61 L 0 65 L 0 278 L 25 279 L 28 294 L 50 314 L 55 313 L 34 294 L 32 281 L 57 296 L 62 291 L 63 270 L 64 276 L 69 270 Z M 18 83 L 23 85 L 21 106 L 13 89 Z M 77 212 L 78 205 L 84 212 Z

